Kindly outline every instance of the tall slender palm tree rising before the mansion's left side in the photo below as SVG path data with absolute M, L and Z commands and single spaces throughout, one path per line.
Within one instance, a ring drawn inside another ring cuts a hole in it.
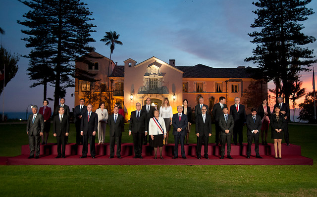
M 111 101 L 112 101 L 112 99 L 110 99 L 110 89 L 109 89 L 109 76 L 110 76 L 110 72 L 111 72 L 111 67 L 110 67 L 111 54 L 112 54 L 112 52 L 114 50 L 114 46 L 116 44 L 117 45 L 122 45 L 122 42 L 118 41 L 120 34 L 117 34 L 115 31 L 113 31 L 113 32 L 110 31 L 110 32 L 105 32 L 105 33 L 106 33 L 106 35 L 100 41 L 105 42 L 106 46 L 110 45 L 110 58 L 109 58 L 107 81 L 108 81 L 109 108 L 111 109 Z

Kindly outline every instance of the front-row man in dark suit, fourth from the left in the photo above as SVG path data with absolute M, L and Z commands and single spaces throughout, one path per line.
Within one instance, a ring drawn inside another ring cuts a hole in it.
M 117 142 L 117 157 L 121 159 L 121 137 L 124 132 L 123 115 L 119 114 L 119 107 L 113 108 L 113 114 L 108 118 L 110 130 L 110 159 L 114 157 L 114 140 Z

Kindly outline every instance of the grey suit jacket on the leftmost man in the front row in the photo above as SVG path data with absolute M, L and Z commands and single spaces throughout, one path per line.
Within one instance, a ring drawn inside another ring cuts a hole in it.
M 29 132 L 29 136 L 32 134 L 34 136 L 39 136 L 41 132 L 44 131 L 44 117 L 42 114 L 38 113 L 33 121 L 33 113 L 29 115 L 28 121 L 26 123 L 26 132 Z

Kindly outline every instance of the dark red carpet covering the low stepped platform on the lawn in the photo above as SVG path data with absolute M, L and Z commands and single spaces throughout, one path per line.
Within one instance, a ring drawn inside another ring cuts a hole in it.
M 41 145 L 40 158 L 28 159 L 29 146 L 22 146 L 22 155 L 15 157 L 0 157 L 1 165 L 313 165 L 313 159 L 301 156 L 301 147 L 296 145 L 282 145 L 282 159 L 274 158 L 274 148 L 272 144 L 267 146 L 260 145 L 259 152 L 263 159 L 255 157 L 254 147 L 251 151 L 251 158 L 246 158 L 246 144 L 243 147 L 231 146 L 231 156 L 233 159 L 220 159 L 220 147 L 209 144 L 209 158 L 197 159 L 196 145 L 190 144 L 185 146 L 187 159 L 172 159 L 174 146 L 168 145 L 163 147 L 164 159 L 154 159 L 154 150 L 149 146 L 143 146 L 143 159 L 133 158 L 132 143 L 122 144 L 122 159 L 109 159 L 109 145 L 96 145 L 97 156 L 95 159 L 88 155 L 87 158 L 80 159 L 82 146 L 69 144 L 66 146 L 66 158 L 54 157 L 57 155 L 57 148 L 54 144 Z M 115 148 L 116 149 L 116 148 Z M 203 151 L 204 148 L 202 148 Z M 88 152 L 89 152 L 88 148 Z M 226 153 L 226 151 L 225 151 Z M 179 148 L 179 155 L 180 148 Z M 202 155 L 204 153 L 202 152 Z

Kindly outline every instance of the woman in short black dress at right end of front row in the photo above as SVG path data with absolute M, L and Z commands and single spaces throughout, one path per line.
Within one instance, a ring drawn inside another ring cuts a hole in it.
M 282 148 L 282 139 L 284 137 L 284 125 L 285 125 L 285 118 L 284 114 L 282 114 L 281 109 L 279 106 L 275 106 L 273 113 L 270 117 L 270 124 L 272 130 L 271 138 L 274 139 L 274 151 L 275 151 L 275 159 L 282 158 L 281 155 L 281 148 Z M 277 157 L 277 148 L 279 157 Z

